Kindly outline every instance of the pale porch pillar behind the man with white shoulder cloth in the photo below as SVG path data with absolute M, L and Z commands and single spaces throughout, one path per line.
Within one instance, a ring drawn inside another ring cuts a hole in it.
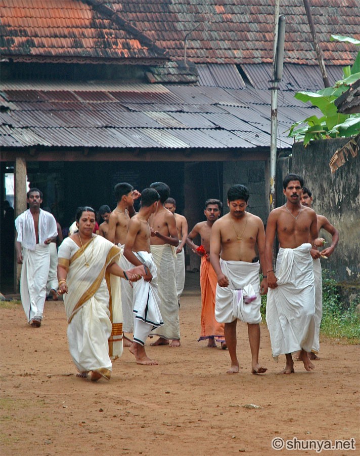
M 14 167 L 15 218 L 22 212 L 26 211 L 26 192 L 26 161 L 23 158 L 16 158 Z M 21 264 L 16 262 L 16 253 L 14 255 L 14 262 L 14 291 L 18 293 L 20 290 Z

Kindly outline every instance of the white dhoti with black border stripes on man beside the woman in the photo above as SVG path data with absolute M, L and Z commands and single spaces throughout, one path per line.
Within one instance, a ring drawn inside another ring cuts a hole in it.
M 146 265 L 153 276 L 151 282 L 144 279 L 133 283 L 133 313 L 134 335 L 133 339 L 142 346 L 150 331 L 164 324 L 160 313 L 160 298 L 158 295 L 157 270 L 151 253 L 134 252 L 139 260 Z M 130 263 L 131 267 L 134 267 Z

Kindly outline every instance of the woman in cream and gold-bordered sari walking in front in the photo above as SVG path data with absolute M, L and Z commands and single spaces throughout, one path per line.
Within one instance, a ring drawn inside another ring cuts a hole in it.
M 113 302 L 109 310 L 110 295 L 105 273 L 130 281 L 145 275 L 144 267 L 127 272 L 119 267 L 116 261 L 120 249 L 93 234 L 95 221 L 94 209 L 79 208 L 76 214 L 79 231 L 66 238 L 58 252 L 58 293 L 64 294 L 70 354 L 79 371 L 78 376 L 86 377 L 91 371 L 92 381 L 101 377 L 110 379 L 111 356 L 115 359 L 118 356 L 109 353 L 109 338 L 113 339 L 115 333 L 115 338 L 119 336 L 119 354 L 122 352 L 122 323 L 115 325 L 113 318 L 110 319 L 115 307 L 121 311 L 121 301 Z

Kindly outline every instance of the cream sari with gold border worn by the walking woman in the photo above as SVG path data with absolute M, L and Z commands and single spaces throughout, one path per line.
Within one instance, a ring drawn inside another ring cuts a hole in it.
M 68 271 L 68 293 L 64 295 L 64 305 L 69 323 L 69 350 L 79 372 L 97 371 L 110 379 L 110 356 L 116 357 L 121 353 L 114 353 L 114 347 L 113 353 L 109 353 L 109 338 L 114 328 L 110 320 L 110 295 L 105 272 L 110 263 L 118 260 L 120 249 L 101 236 L 94 236 L 93 241 L 83 248 L 84 251 L 67 238 L 58 252 L 59 265 Z M 85 265 L 84 254 L 89 267 Z M 120 306 L 121 309 L 121 301 L 112 301 L 112 306 Z M 115 331 L 119 332 L 117 326 Z

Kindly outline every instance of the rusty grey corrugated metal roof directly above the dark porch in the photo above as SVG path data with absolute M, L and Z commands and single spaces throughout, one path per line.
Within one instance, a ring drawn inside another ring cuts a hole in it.
M 268 90 L 5 82 L 1 95 L 2 147 L 247 149 L 270 144 Z M 285 131 L 316 113 L 284 96 L 278 146 L 289 148 L 292 140 Z

